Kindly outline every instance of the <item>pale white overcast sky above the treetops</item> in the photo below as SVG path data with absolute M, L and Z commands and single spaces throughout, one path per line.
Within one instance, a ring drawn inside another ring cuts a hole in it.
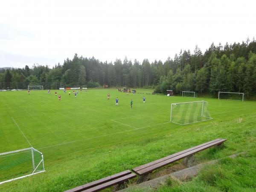
M 256 37 L 255 0 L 3 0 L 0 67 L 79 56 L 140 62 Z

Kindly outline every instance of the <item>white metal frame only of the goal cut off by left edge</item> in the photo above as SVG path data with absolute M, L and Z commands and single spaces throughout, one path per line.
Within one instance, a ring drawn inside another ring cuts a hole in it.
M 24 176 L 21 176 L 21 177 L 16 177 L 16 178 L 13 178 L 13 179 L 9 179 L 9 180 L 5 180 L 3 182 L 0 182 L 0 185 L 3 184 L 3 183 L 7 183 L 7 182 L 11 182 L 13 180 L 18 180 L 18 179 L 22 179 L 22 178 L 25 178 L 25 177 L 29 177 L 29 176 L 32 176 L 32 175 L 35 175 L 35 174 L 38 174 L 38 173 L 42 173 L 42 172 L 45 172 L 45 169 L 44 169 L 44 155 L 36 150 L 35 148 L 33 147 L 30 147 L 30 148 L 23 148 L 23 149 L 19 149 L 19 150 L 16 150 L 16 151 L 9 151 L 9 152 L 5 152 L 5 153 L 0 153 L 0 156 L 1 155 L 6 155 L 6 154 L 12 154 L 12 153 L 16 153 L 16 152 L 20 152 L 20 151 L 29 151 L 31 150 L 31 156 L 32 156 L 32 166 L 33 166 L 33 172 L 29 175 L 24 175 Z M 39 154 L 41 154 L 41 161 L 38 163 L 38 165 L 35 165 L 35 160 L 34 160 L 34 151 L 37 151 Z M 42 163 L 42 166 L 43 166 L 43 171 L 39 171 L 39 172 L 35 172 L 36 169 L 38 168 L 38 166 Z

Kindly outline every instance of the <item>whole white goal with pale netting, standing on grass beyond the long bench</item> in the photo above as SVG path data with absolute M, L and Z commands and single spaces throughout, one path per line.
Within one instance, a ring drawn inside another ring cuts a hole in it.
M 186 125 L 212 119 L 208 111 L 208 102 L 172 103 L 170 122 Z

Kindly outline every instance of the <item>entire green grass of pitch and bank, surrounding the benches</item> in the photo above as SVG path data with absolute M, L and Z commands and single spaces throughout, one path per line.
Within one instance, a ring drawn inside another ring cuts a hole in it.
M 77 98 L 61 93 L 61 102 L 53 91 L 52 95 L 47 91 L 30 96 L 26 92 L 0 94 L 0 151 L 29 147 L 18 125 L 32 146 L 44 153 L 47 171 L 3 184 L 0 191 L 63 191 L 216 138 L 227 139 L 224 148 L 196 154 L 199 162 L 241 151 L 248 151 L 247 156 L 222 160 L 188 182 L 159 190 L 255 189 L 251 181 L 256 180 L 256 102 L 145 94 L 143 104 L 143 94 L 127 96 L 116 90 L 89 90 Z M 116 96 L 119 106 L 115 106 Z M 166 123 L 171 103 L 198 100 L 209 102 L 213 120 L 190 125 Z

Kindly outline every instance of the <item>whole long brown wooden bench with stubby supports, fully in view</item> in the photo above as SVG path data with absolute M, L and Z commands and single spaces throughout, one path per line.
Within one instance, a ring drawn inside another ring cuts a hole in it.
M 175 161 L 178 161 L 180 159 L 184 159 L 184 163 L 186 163 L 187 166 L 193 166 L 193 163 L 195 162 L 195 158 L 193 157 L 193 155 L 195 153 L 216 145 L 221 146 L 225 141 L 226 140 L 224 139 L 212 140 L 207 143 L 203 143 L 201 145 L 197 145 L 184 151 L 180 151 L 175 154 L 169 155 L 167 157 L 163 157 L 159 160 L 155 160 L 151 163 L 147 163 L 145 165 L 136 167 L 132 169 L 132 171 L 140 176 L 139 179 L 137 180 L 137 183 L 142 183 L 143 181 L 150 179 L 150 173 L 153 172 L 154 170 L 159 169 L 163 166 L 167 166 L 170 163 L 174 163 Z

